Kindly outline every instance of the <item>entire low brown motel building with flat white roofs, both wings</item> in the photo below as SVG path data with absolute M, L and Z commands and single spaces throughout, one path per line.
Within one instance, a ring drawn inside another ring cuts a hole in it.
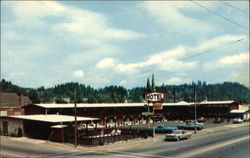
M 22 107 L 25 115 L 0 117 L 0 134 L 73 143 L 76 121 L 79 144 L 105 144 L 145 137 L 147 132 L 147 136 L 150 136 L 150 131 L 133 129 L 135 125 L 153 123 L 153 120 L 194 119 L 195 107 L 197 118 L 220 117 L 228 121 L 250 118 L 249 105 L 239 105 L 235 101 L 181 101 L 163 103 L 157 109 L 152 103 L 78 103 L 76 120 L 74 104 L 28 104 Z M 152 119 L 153 116 L 147 115 L 153 111 L 154 116 L 160 117 Z

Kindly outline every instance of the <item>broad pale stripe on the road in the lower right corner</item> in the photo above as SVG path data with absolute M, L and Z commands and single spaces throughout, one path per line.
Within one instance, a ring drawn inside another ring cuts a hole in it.
M 204 153 L 204 152 L 215 150 L 215 149 L 218 149 L 218 148 L 230 145 L 230 144 L 234 144 L 234 143 L 237 143 L 237 142 L 240 142 L 240 141 L 244 141 L 244 140 L 247 140 L 247 139 L 249 139 L 249 136 L 243 136 L 243 137 L 236 138 L 236 139 L 229 140 L 229 141 L 225 141 L 225 142 L 222 142 L 222 143 L 219 143 L 219 144 L 212 144 L 212 145 L 210 145 L 208 147 L 197 148 L 197 149 L 192 150 L 190 152 L 185 152 L 183 154 L 176 155 L 176 157 L 179 157 L 179 158 L 192 157 L 192 156 Z

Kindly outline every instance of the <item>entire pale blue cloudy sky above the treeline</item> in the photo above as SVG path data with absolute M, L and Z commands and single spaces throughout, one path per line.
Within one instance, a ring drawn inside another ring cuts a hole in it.
M 249 1 L 1 2 L 1 78 L 23 87 L 249 83 Z

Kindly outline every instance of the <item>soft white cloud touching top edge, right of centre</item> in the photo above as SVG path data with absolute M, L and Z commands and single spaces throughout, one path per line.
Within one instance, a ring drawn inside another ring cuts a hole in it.
M 185 10 L 200 11 L 200 8 L 192 2 L 147 1 L 143 3 L 142 8 L 146 9 L 160 24 L 171 30 L 192 31 L 196 33 L 213 30 L 212 25 L 205 20 L 200 20 L 183 13 Z

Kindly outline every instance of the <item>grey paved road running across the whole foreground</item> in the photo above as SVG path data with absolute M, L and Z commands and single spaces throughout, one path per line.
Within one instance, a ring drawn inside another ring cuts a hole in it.
M 44 143 L 24 143 L 2 139 L 2 157 L 80 158 L 80 157 L 194 157 L 249 158 L 249 126 L 227 125 L 198 131 L 189 140 L 165 142 L 164 135 L 153 139 L 115 143 L 103 147 L 55 147 Z

